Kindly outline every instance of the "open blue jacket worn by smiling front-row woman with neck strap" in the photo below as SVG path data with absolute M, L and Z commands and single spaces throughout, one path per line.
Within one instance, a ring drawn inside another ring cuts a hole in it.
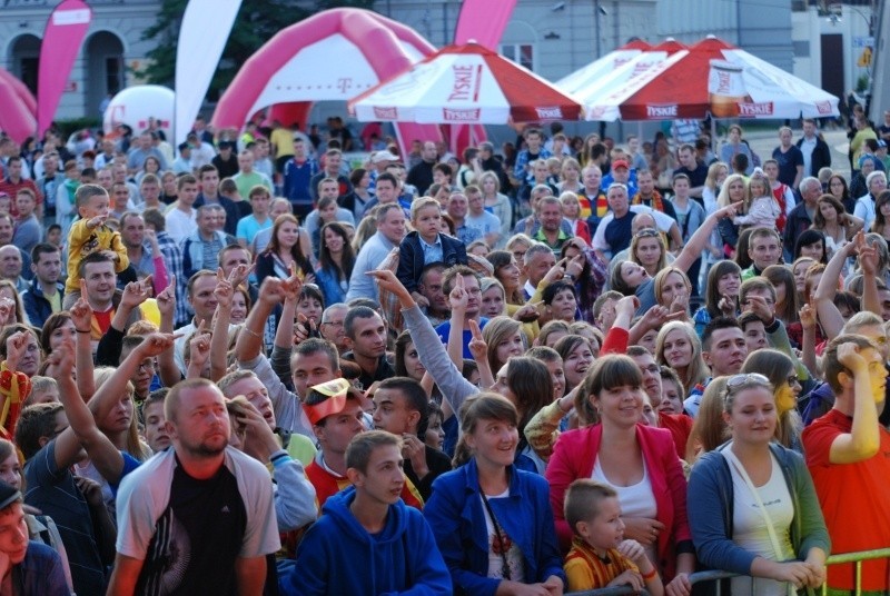
M 515 466 L 508 473 L 510 497 L 490 504 L 497 523 L 523 554 L 525 577 L 514 579 L 536 584 L 555 575 L 565 585 L 547 481 Z M 455 594 L 494 596 L 501 579 L 486 577 L 488 536 L 475 459 L 436 478 L 424 516 L 452 573 Z

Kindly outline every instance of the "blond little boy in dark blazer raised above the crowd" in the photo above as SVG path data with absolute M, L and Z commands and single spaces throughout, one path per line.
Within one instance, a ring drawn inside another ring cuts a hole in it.
M 442 209 L 436 199 L 424 197 L 412 202 L 408 232 L 398 246 L 398 270 L 396 277 L 422 307 L 429 301 L 417 290 L 424 267 L 431 262 L 443 262 L 445 267 L 466 265 L 466 247 L 459 240 L 439 234 Z

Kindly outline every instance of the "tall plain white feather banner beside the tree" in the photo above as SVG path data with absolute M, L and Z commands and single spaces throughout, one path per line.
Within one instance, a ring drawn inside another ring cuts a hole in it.
M 189 0 L 176 50 L 174 147 L 184 142 L 235 24 L 241 0 Z

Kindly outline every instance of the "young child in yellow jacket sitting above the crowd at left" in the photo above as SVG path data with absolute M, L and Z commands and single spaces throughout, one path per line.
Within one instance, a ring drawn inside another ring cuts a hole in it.
M 98 185 L 83 185 L 75 192 L 75 202 L 80 219 L 68 232 L 68 280 L 65 285 L 62 308 L 69 309 L 80 298 L 80 261 L 92 252 L 108 252 L 115 260 L 118 274 L 129 267 L 127 247 L 117 232 L 106 226 L 110 199 L 106 189 Z

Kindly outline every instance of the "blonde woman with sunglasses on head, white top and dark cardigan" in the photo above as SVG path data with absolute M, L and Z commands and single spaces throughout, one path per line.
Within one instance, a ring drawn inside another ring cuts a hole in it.
M 699 560 L 749 576 L 729 580 L 728 594 L 784 596 L 821 586 L 830 548 L 825 522 L 803 458 L 772 440 L 778 413 L 769 379 L 730 377 L 723 419 L 732 439 L 702 455 L 690 477 Z

